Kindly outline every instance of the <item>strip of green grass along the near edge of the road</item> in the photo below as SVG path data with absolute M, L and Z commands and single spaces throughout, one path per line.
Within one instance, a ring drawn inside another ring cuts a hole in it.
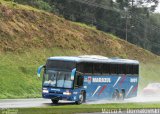
M 118 108 L 116 108 L 118 107 Z M 19 114 L 74 114 L 74 113 L 91 113 L 106 111 L 124 111 L 126 109 L 148 109 L 148 108 L 160 108 L 159 103 L 112 103 L 112 104 L 95 104 L 95 105 L 64 105 L 64 106 L 48 106 L 40 108 L 21 108 L 14 109 Z

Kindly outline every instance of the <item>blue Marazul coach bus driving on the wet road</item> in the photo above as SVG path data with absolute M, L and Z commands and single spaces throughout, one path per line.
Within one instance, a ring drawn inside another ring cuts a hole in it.
M 57 56 L 47 59 L 42 96 L 53 103 L 59 100 L 123 100 L 137 96 L 139 62 L 103 56 Z

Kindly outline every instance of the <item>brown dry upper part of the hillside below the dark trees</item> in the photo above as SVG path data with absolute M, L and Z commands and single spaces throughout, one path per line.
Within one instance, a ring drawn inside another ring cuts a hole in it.
M 154 60 L 158 56 L 91 27 L 76 24 L 54 14 L 0 4 L 0 51 L 23 53 L 32 48 L 75 49 L 101 54 Z

